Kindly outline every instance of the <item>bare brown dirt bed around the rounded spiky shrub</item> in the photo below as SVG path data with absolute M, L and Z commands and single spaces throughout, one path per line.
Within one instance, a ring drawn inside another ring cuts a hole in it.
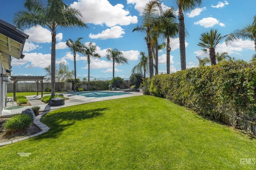
M 13 134 L 8 134 L 6 133 L 8 130 L 3 127 L 3 124 L 7 119 L 8 118 L 0 118 L 0 143 L 23 138 L 25 136 L 30 136 L 32 134 L 36 134 L 42 131 L 38 126 L 32 123 L 30 127 L 28 127 L 26 130 L 22 132 L 15 132 Z

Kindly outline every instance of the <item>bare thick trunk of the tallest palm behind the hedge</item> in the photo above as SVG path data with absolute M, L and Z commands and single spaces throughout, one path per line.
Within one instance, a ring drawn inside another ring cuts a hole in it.
M 179 38 L 180 38 L 180 65 L 181 70 L 186 69 L 185 24 L 182 7 L 179 4 Z

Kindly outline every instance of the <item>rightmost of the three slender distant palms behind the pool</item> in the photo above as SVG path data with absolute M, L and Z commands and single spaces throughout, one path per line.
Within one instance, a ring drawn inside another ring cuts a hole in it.
M 115 63 L 118 64 L 123 64 L 127 63 L 128 64 L 128 59 L 124 57 L 123 53 L 121 51 L 118 51 L 118 49 L 107 49 L 107 54 L 106 57 L 108 60 L 113 61 L 113 79 L 115 77 Z

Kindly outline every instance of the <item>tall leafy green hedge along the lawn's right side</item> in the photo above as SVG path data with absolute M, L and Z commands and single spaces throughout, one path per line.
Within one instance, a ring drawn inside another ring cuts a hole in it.
M 156 75 L 150 92 L 200 115 L 256 132 L 256 61 L 224 61 Z

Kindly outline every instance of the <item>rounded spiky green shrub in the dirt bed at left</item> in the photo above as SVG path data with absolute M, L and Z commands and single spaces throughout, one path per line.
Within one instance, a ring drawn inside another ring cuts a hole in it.
M 24 115 L 24 114 L 18 114 L 10 119 L 7 119 L 4 123 L 4 128 L 8 129 L 8 132 L 18 132 L 25 130 L 28 128 L 33 119 L 30 117 L 30 115 Z

